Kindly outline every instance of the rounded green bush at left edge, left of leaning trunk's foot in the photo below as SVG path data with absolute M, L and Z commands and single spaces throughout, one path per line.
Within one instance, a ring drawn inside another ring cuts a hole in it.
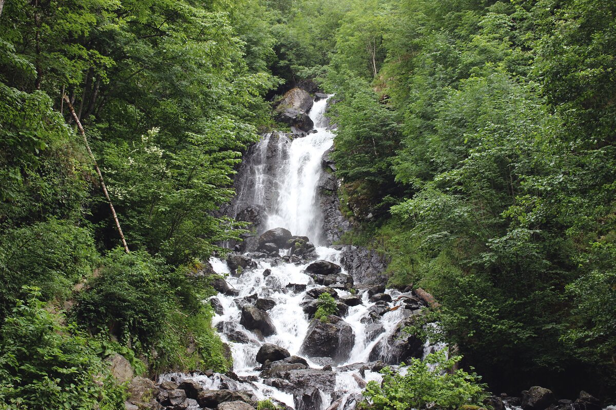
M 75 283 L 92 274 L 98 253 L 91 232 L 51 220 L 12 229 L 0 237 L 0 318 L 37 286 L 44 301 L 65 299 Z

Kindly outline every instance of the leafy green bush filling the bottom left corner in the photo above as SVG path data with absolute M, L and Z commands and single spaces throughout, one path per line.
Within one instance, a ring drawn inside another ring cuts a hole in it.
M 122 408 L 123 388 L 96 354 L 100 345 L 60 325 L 39 297 L 35 290 L 17 301 L 0 329 L 0 409 Z

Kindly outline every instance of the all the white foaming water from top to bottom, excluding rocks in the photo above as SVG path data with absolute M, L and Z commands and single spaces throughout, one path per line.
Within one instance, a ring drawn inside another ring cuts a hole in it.
M 278 136 L 278 141 L 270 141 L 272 134 L 269 134 L 257 144 L 256 154 L 261 158 L 256 161 L 258 164 L 249 170 L 248 177 L 244 181 L 245 184 L 252 184 L 254 189 L 243 190 L 249 197 L 241 198 L 245 203 L 264 205 L 267 200 L 264 197 L 265 181 L 271 177 L 271 174 L 274 174 L 277 176 L 277 181 L 275 181 L 275 186 L 278 187 L 277 197 L 275 198 L 275 206 L 268 211 L 267 229 L 279 226 L 286 227 L 292 234 L 306 235 L 317 244 L 322 234 L 322 216 L 317 204 L 318 180 L 323 173 L 321 160 L 323 153 L 333 144 L 333 134 L 326 130 L 326 121 L 323 117 L 326 103 L 326 100 L 318 101 L 314 103 L 310 111 L 310 118 L 315 124 L 316 132 L 309 133 L 302 138 L 295 138 L 293 141 L 290 141 L 286 136 Z M 267 145 L 270 143 L 278 144 L 278 149 L 274 152 L 277 152 L 279 156 L 279 161 L 275 163 L 280 164 L 280 167 L 277 170 L 269 170 L 270 175 L 268 176 L 265 175 L 268 170 L 264 164 Z M 285 157 L 286 159 L 284 159 Z M 280 254 L 283 254 L 284 251 L 281 250 Z M 317 259 L 339 264 L 341 251 L 317 246 L 316 252 L 318 254 Z M 210 262 L 214 271 L 218 274 L 227 275 L 230 273 L 225 261 L 212 258 Z M 230 341 L 225 334 L 221 334 L 223 341 L 229 344 L 233 355 L 233 372 L 240 377 L 252 376 L 253 379 L 256 378 L 256 381 L 237 382 L 217 374 L 213 377 L 190 377 L 208 389 L 225 387 L 233 390 L 251 390 L 259 399 L 274 398 L 294 407 L 293 395 L 264 384 L 260 372 L 256 369 L 260 366 L 256 361 L 256 354 L 264 343 L 272 343 L 284 347 L 291 355 L 300 356 L 301 345 L 310 325 L 309 318 L 302 310 L 301 303 L 306 300 L 307 291 L 321 286 L 315 285 L 309 275 L 304 272 L 310 262 L 298 265 L 275 262 L 273 259 L 258 259 L 256 262 L 257 267 L 255 269 L 245 269 L 239 277 L 232 275 L 227 277 L 227 282 L 240 294 L 238 296 L 225 296 L 224 294 L 216 296 L 221 302 L 223 312 L 213 318 L 214 326 L 225 322 L 225 326 L 232 326 L 236 331 L 248 337 L 248 343 L 237 343 Z M 265 269 L 271 271 L 267 276 L 264 275 Z M 342 269 L 342 273 L 345 273 L 344 269 Z M 305 291 L 293 293 L 286 288 L 286 285 L 289 284 L 307 285 L 307 288 Z M 351 294 L 345 290 L 336 290 L 336 292 L 339 297 Z M 394 299 L 400 295 L 400 292 L 395 290 L 387 290 L 386 293 L 391 294 Z M 268 311 L 275 325 L 276 333 L 262 339 L 240 325 L 241 306 L 242 303 L 245 303 L 243 298 L 254 294 L 258 298 L 271 298 L 276 302 L 275 307 Z M 389 302 L 388 307 L 391 310 L 384 313 L 377 323 L 383 331 L 370 339 L 367 335 L 368 325 L 363 322 L 367 322 L 365 319 L 370 314 L 369 309 L 375 306 L 375 303 L 370 301 L 367 292 L 360 293 L 359 296 L 361 296 L 363 303 L 359 306 L 349 307 L 347 315 L 344 317 L 344 321 L 353 330 L 355 341 L 346 362 L 339 363 L 338 367 L 333 368 L 336 378 L 333 392 L 321 391 L 320 409 L 306 410 L 323 410 L 330 406 L 334 399 L 339 403 L 339 410 L 353 409 L 355 401 L 352 396 L 360 393 L 368 381 L 379 382 L 381 380 L 379 373 L 370 370 L 366 370 L 362 377 L 359 370 L 345 370 L 341 367 L 368 362 L 370 352 L 375 349 L 375 346 L 390 337 L 400 320 L 411 313 L 409 310 L 403 309 L 402 301 Z M 396 306 L 398 308 L 395 308 Z M 387 343 L 383 345 L 385 351 L 381 350 L 381 354 L 386 358 L 389 346 Z M 433 348 L 430 344 L 426 344 L 424 355 Z M 439 348 L 442 347 L 439 346 Z M 322 368 L 322 365 L 315 363 L 310 358 L 304 358 L 310 368 Z M 169 380 L 173 376 L 188 377 L 185 374 L 165 374 L 161 376 L 161 380 Z

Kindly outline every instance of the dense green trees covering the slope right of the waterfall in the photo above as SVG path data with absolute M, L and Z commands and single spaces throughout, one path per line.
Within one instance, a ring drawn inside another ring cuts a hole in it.
M 344 239 L 378 243 L 392 285 L 434 294 L 445 338 L 495 389 L 583 388 L 581 372 L 613 390 L 613 5 L 357 10 L 324 81 L 341 200 L 363 221 Z

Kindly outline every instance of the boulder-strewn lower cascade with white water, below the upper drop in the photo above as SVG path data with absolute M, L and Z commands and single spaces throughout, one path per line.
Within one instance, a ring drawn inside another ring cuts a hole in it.
M 201 408 L 271 399 L 294 409 L 349 410 L 384 366 L 439 348 L 403 331 L 426 302 L 411 290 L 355 283 L 340 264 L 341 249 L 315 246 L 283 228 L 265 232 L 258 243 L 256 251 L 211 259 L 212 270 L 225 277 L 214 281 L 220 293 L 209 302 L 233 372 L 164 374 L 159 382 L 177 384 L 170 391 L 199 385 L 201 396 L 187 398 Z M 336 307 L 315 320 L 322 293 Z

